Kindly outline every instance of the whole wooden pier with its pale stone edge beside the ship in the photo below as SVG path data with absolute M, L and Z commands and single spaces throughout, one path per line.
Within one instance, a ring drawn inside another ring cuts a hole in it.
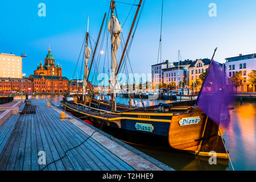
M 0 127 L 1 171 L 173 170 L 73 115 L 60 119 L 63 110 L 47 102 L 32 100 L 35 114 L 12 115 Z

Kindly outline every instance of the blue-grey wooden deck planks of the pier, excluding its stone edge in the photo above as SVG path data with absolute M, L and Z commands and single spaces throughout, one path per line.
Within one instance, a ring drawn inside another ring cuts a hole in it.
M 44 170 L 134 170 L 100 143 L 88 139 L 73 123 L 60 120 L 59 113 L 46 107 L 46 101 L 32 100 L 31 105 L 36 106 L 36 113 L 20 115 L 12 125 L 12 134 L 0 153 L 0 170 L 42 170 L 46 165 L 38 164 L 39 151 L 46 152 L 47 164 L 57 160 Z M 6 134 L 6 129 L 3 131 Z M 67 150 L 67 156 L 60 159 Z

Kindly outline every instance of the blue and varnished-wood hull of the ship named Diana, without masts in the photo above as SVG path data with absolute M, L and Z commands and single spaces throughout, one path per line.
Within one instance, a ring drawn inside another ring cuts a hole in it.
M 86 117 L 94 126 L 126 142 L 146 146 L 171 147 L 197 155 L 207 155 L 207 152 L 214 150 L 217 151 L 217 156 L 228 158 L 225 155 L 220 136 L 216 135 L 216 133 L 214 133 L 215 135 L 210 135 L 212 130 L 216 130 L 218 133 L 218 126 L 199 107 L 196 107 L 192 113 L 188 111 L 176 113 L 133 113 L 133 111 L 127 110 L 119 113 L 116 118 L 108 119 L 92 114 L 88 115 L 88 113 L 78 111 L 75 107 L 64 102 L 61 102 L 61 104 L 77 117 Z M 189 118 L 197 119 L 197 121 L 192 123 L 191 120 L 191 123 L 184 123 Z M 212 129 L 208 130 L 207 126 Z

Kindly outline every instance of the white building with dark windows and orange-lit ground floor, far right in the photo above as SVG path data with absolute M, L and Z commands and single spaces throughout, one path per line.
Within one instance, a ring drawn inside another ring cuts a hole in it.
M 232 77 L 236 72 L 242 72 L 243 82 L 237 92 L 256 92 L 256 85 L 249 81 L 248 74 L 256 70 L 256 53 L 226 58 L 226 77 Z

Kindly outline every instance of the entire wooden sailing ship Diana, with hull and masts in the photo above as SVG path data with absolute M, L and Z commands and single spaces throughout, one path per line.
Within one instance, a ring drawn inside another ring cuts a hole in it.
M 139 1 L 137 6 L 137 12 L 118 69 L 116 60 L 117 48 L 115 47 L 115 50 L 113 49 L 113 44 L 116 42 L 112 42 L 112 71 L 114 72 L 112 79 L 114 81 L 116 81 L 116 76 L 122 64 L 131 31 L 133 30 L 141 5 L 142 0 Z M 114 16 L 114 1 L 111 1 L 110 7 L 112 10 L 110 22 L 113 23 L 113 21 L 116 21 Z M 119 30 L 115 34 L 113 31 L 110 31 L 110 34 L 117 38 L 120 32 Z M 85 44 L 86 46 L 87 44 Z M 96 48 L 94 49 L 94 53 Z M 87 82 L 89 77 L 87 73 L 88 60 L 86 61 L 84 82 Z M 114 82 L 113 87 L 115 86 L 117 85 Z M 84 85 L 85 88 L 86 85 Z M 82 119 L 89 120 L 94 126 L 100 127 L 106 133 L 126 142 L 147 146 L 166 146 L 203 156 L 208 156 L 210 151 L 215 151 L 217 152 L 216 155 L 218 158 L 228 159 L 228 154 L 225 151 L 225 146 L 221 138 L 221 135 L 225 132 L 224 129 L 221 129 L 220 126 L 214 123 L 212 119 L 195 105 L 196 101 L 182 101 L 147 107 L 131 107 L 130 104 L 117 104 L 115 94 L 112 93 L 110 101 L 96 100 L 93 97 L 93 93 L 89 94 L 90 96 L 86 96 L 84 92 L 81 95 L 73 97 L 75 99 L 70 99 L 70 95 L 68 94 L 61 101 L 61 104 L 65 107 L 65 110 Z

